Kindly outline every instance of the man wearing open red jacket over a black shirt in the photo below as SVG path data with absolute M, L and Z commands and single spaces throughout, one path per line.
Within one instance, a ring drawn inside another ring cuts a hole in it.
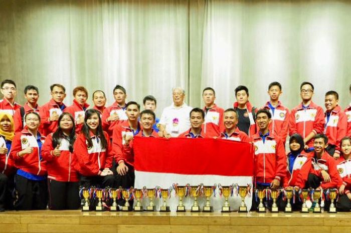
M 256 132 L 256 112 L 257 108 L 249 102 L 249 89 L 245 86 L 235 88 L 235 97 L 237 102 L 234 103 L 234 109 L 238 115 L 238 128 L 246 133 L 249 137 Z

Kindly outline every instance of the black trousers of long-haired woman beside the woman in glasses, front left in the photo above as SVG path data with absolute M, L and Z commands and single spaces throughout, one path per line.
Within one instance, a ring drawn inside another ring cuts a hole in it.
M 79 182 L 61 182 L 48 179 L 49 208 L 78 209 L 80 206 Z

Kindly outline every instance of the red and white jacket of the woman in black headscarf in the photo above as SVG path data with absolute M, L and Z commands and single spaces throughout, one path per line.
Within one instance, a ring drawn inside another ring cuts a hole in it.
M 289 156 L 289 154 L 287 156 Z M 303 153 L 297 155 L 292 167 L 292 173 L 290 173 L 289 166 L 287 166 L 283 187 L 297 186 L 299 188 L 304 188 L 311 166 L 312 160 L 310 155 Z

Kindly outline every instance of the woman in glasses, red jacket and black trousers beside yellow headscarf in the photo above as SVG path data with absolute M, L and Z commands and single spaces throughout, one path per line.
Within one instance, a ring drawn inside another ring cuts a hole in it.
M 27 129 L 15 134 L 11 156 L 18 169 L 15 176 L 15 209 L 46 209 L 48 186 L 46 161 L 42 160 L 45 138 L 38 132 L 40 116 L 30 112 L 25 117 Z

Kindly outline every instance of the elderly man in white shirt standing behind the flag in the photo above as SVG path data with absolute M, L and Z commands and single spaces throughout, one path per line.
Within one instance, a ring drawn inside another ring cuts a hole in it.
M 189 115 L 193 108 L 184 103 L 184 89 L 173 88 L 172 98 L 173 103 L 163 109 L 159 120 L 160 137 L 178 137 L 190 128 Z

